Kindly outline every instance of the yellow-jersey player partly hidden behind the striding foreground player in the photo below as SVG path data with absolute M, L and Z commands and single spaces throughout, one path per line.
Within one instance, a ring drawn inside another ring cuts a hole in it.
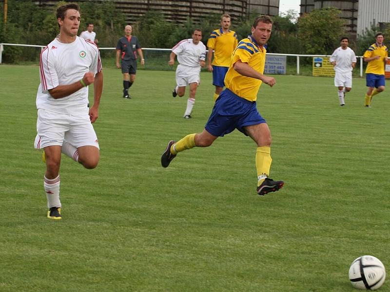
M 213 72 L 213 85 L 215 86 L 214 101 L 225 86 L 225 75 L 232 62 L 232 53 L 238 43 L 237 34 L 229 29 L 231 24 L 230 15 L 222 15 L 221 27 L 213 31 L 207 41 L 209 49 L 207 54 L 208 69 Z M 212 63 L 213 50 L 214 60 Z

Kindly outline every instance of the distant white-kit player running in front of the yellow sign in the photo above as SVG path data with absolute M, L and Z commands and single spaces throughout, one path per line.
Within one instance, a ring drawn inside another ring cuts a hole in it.
M 352 88 L 352 70 L 356 65 L 356 55 L 348 47 L 348 37 L 341 37 L 341 47 L 334 50 L 329 58 L 335 71 L 334 86 L 338 88 L 338 99 L 340 106 L 345 106 L 345 93 L 351 91 Z

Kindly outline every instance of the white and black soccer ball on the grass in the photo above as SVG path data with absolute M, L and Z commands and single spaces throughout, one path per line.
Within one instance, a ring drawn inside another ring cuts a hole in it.
M 350 267 L 349 276 L 353 287 L 362 290 L 376 290 L 385 282 L 386 270 L 375 256 L 360 256 Z

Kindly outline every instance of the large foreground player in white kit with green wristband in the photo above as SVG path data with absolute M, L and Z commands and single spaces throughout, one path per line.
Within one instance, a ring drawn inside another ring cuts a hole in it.
M 57 9 L 59 37 L 40 55 L 35 148 L 44 149 L 44 190 L 47 217 L 61 219 L 59 166 L 61 152 L 92 169 L 98 165 L 99 144 L 92 123 L 98 118 L 103 73 L 98 47 L 77 36 L 78 4 Z M 94 104 L 89 108 L 88 85 L 94 83 Z

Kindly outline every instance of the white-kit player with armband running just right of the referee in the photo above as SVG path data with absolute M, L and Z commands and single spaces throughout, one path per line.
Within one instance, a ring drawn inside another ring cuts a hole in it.
M 195 29 L 192 38 L 179 41 L 173 48 L 169 56 L 169 65 L 175 64 L 175 56 L 179 65 L 176 68 L 176 87 L 172 91 L 172 96 L 183 96 L 186 86 L 190 86 L 190 97 L 187 100 L 187 108 L 184 118 L 192 118 L 191 112 L 195 104 L 195 93 L 200 83 L 200 67 L 206 65 L 206 46 L 200 41 L 202 31 Z

